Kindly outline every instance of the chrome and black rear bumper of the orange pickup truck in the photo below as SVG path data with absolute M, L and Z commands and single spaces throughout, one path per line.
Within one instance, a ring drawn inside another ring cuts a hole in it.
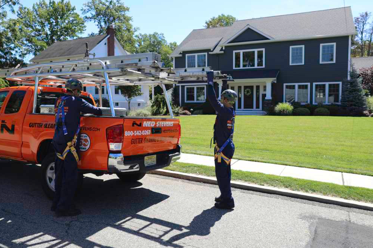
M 150 155 L 157 156 L 157 164 L 152 166 L 145 166 L 144 157 Z M 179 160 L 180 156 L 181 145 L 177 145 L 176 149 L 173 150 L 138 156 L 125 157 L 121 153 L 110 153 L 107 163 L 107 170 L 109 171 L 109 173 L 148 172 L 150 170 L 156 170 L 169 166 L 171 162 Z

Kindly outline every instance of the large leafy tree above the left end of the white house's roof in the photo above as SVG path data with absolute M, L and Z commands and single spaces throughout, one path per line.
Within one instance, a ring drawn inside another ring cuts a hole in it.
M 77 38 L 85 30 L 83 18 L 70 1 L 40 0 L 32 9 L 19 7 L 17 16 L 25 47 L 34 55 L 57 41 Z

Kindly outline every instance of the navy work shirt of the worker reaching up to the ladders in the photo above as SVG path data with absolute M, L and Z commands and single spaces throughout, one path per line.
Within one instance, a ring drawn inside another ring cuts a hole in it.
M 217 112 L 214 124 L 214 141 L 217 142 L 218 147 L 222 147 L 232 133 L 233 107 L 228 108 L 220 103 L 216 98 L 214 87 L 212 85 L 207 85 L 207 97 L 209 98 L 211 106 Z M 233 142 L 230 142 L 223 150 L 225 156 L 229 157 L 230 151 L 226 151 L 227 149 L 234 150 Z

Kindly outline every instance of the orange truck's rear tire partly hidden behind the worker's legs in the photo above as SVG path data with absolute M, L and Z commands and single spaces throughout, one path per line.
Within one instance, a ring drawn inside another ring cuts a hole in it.
M 47 197 L 53 200 L 54 197 L 54 160 L 56 160 L 56 154 L 48 154 L 43 162 L 41 163 L 41 186 Z M 78 186 L 76 193 L 80 191 L 83 185 L 83 174 L 78 175 Z

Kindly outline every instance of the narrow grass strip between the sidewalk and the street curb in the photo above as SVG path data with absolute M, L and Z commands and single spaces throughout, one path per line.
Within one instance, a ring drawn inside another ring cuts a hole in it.
M 203 165 L 176 162 L 164 169 L 203 176 L 215 176 L 214 167 Z M 373 203 L 373 190 L 367 188 L 343 186 L 334 183 L 316 182 L 285 176 L 266 175 L 257 172 L 244 172 L 242 170 L 232 170 L 232 180 Z

